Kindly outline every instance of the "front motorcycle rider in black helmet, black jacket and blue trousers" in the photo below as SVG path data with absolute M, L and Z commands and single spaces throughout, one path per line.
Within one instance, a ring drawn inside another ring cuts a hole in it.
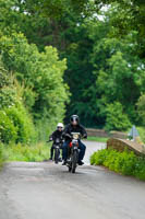
M 64 131 L 62 134 L 63 138 L 65 139 L 64 143 L 62 146 L 62 160 L 63 160 L 62 165 L 67 164 L 68 147 L 72 140 L 71 132 L 80 132 L 83 138 L 87 138 L 87 132 L 86 132 L 85 128 L 80 124 L 80 118 L 77 115 L 71 116 L 70 124 L 67 125 L 67 127 L 64 128 Z M 85 155 L 86 146 L 81 140 L 78 140 L 78 147 L 80 147 L 78 165 L 83 165 L 84 162 L 82 160 Z

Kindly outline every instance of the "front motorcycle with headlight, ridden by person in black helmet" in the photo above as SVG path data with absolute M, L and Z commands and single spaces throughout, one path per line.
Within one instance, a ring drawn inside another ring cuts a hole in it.
M 71 136 L 72 140 L 69 145 L 69 159 L 67 165 L 69 168 L 69 172 L 75 173 L 78 162 L 78 153 L 80 153 L 78 140 L 81 139 L 81 134 L 71 132 Z

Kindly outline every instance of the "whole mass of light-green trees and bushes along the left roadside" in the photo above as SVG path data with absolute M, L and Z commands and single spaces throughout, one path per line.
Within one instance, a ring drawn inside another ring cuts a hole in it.
M 29 143 L 48 135 L 63 118 L 68 100 L 62 79 L 65 60 L 60 61 L 52 47 L 39 53 L 23 34 L 1 36 L 0 48 L 2 66 L 7 69 L 1 70 L 0 138 L 4 143 Z M 34 130 L 34 124 L 38 131 Z

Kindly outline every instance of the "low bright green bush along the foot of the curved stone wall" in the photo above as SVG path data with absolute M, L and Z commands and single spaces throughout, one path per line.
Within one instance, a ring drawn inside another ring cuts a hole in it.
M 123 175 L 133 175 L 145 181 L 145 158 L 136 157 L 134 152 L 104 149 L 90 157 L 90 164 L 105 165 L 111 171 Z

